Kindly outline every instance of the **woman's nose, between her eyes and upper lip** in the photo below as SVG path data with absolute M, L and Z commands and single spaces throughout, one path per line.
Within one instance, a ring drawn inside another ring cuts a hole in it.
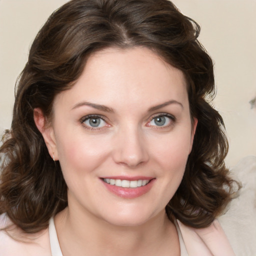
M 143 132 L 138 128 L 126 127 L 115 134 L 113 143 L 113 160 L 134 168 L 149 159 L 148 147 Z

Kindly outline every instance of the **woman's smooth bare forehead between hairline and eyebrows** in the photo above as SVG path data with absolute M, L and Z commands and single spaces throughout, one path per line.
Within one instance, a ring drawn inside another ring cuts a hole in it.
M 58 96 L 58 95 L 57 95 Z M 145 47 L 107 48 L 89 56 L 71 89 L 60 93 L 66 104 L 93 100 L 131 106 L 187 99 L 182 71 Z

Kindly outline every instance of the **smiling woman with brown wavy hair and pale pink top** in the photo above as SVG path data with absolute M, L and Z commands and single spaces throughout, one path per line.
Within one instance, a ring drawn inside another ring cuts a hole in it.
M 31 45 L 0 176 L 1 255 L 234 255 L 212 60 L 167 0 L 71 0 Z

